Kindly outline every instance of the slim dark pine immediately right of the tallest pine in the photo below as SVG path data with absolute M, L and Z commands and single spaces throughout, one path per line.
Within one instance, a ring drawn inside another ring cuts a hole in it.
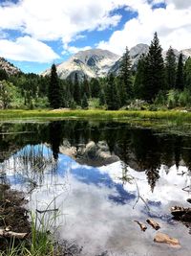
M 168 49 L 165 60 L 166 88 L 175 88 L 177 63 L 176 56 L 172 47 Z

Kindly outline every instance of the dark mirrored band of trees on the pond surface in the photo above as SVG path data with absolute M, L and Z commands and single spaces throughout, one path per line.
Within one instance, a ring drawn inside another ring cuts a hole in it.
M 138 172 L 145 171 L 152 188 L 161 164 L 184 164 L 191 170 L 191 138 L 157 134 L 151 129 L 131 128 L 115 122 L 56 121 L 38 124 L 1 124 L 0 161 L 27 145 L 46 143 L 58 158 L 59 146 L 68 140 L 76 147 L 105 141 L 113 154 Z

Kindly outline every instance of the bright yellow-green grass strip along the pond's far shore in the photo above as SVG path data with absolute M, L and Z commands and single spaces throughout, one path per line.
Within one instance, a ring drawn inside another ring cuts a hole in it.
M 0 122 L 23 119 L 97 119 L 97 120 L 167 120 L 175 123 L 191 123 L 191 112 L 180 110 L 0 110 Z

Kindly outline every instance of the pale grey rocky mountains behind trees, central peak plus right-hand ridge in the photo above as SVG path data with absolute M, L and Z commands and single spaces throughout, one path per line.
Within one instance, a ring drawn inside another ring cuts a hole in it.
M 135 70 L 138 65 L 138 59 L 142 54 L 147 54 L 149 46 L 147 44 L 140 43 L 130 49 L 129 55 L 132 60 L 132 68 Z M 166 57 L 166 52 L 163 51 L 163 58 Z M 177 59 L 180 52 L 183 54 L 184 60 L 191 57 L 191 49 L 185 49 L 178 51 L 174 49 Z M 72 58 L 62 62 L 56 66 L 57 74 L 60 79 L 71 78 L 74 80 L 74 74 L 80 80 L 83 80 L 84 76 L 87 78 L 101 78 L 106 77 L 108 74 L 118 74 L 119 64 L 121 57 L 107 50 L 92 49 L 87 51 L 80 51 Z M 47 69 L 42 73 L 43 76 L 50 75 L 51 69 Z

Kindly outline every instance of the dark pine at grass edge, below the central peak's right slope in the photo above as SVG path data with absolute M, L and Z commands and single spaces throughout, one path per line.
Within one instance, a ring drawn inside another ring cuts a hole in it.
M 120 106 L 115 77 L 111 74 L 106 85 L 106 103 L 109 110 L 117 110 Z

